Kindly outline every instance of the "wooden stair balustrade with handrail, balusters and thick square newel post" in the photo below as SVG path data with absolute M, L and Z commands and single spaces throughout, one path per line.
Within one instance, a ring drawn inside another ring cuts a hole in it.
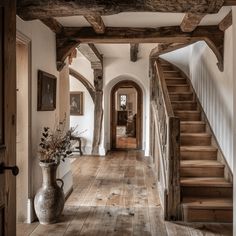
M 164 181 L 161 188 L 166 220 L 179 220 L 180 209 L 180 119 L 174 115 L 161 61 L 154 62 L 152 116 L 160 148 L 159 163 Z M 156 111 L 155 111 L 156 110 Z

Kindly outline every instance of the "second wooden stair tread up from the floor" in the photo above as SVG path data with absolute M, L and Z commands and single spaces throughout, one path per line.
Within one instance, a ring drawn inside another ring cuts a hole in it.
M 232 183 L 222 177 L 183 177 L 180 179 L 181 186 L 194 187 L 232 187 Z

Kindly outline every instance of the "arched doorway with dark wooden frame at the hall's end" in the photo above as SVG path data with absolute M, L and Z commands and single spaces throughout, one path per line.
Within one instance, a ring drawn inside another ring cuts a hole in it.
M 117 83 L 111 90 L 111 148 L 142 148 L 143 93 L 132 80 Z

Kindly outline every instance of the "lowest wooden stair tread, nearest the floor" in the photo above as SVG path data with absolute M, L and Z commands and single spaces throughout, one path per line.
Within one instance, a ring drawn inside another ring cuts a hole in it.
M 182 206 L 195 209 L 233 209 L 231 198 L 183 198 Z

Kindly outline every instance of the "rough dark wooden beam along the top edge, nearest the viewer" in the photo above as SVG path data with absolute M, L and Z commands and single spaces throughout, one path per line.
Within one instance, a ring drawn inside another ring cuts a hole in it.
M 224 0 L 18 0 L 17 14 L 24 20 L 75 15 L 112 15 L 120 12 L 191 12 L 217 13 L 226 4 Z

